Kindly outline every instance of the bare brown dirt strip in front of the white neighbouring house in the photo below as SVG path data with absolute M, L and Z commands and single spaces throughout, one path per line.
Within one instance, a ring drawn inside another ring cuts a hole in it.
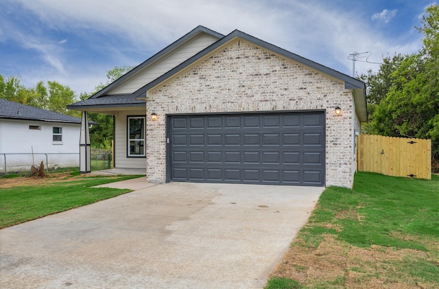
M 21 176 L 19 178 L 0 178 L 0 188 L 6 189 L 10 187 L 21 187 L 28 185 L 43 185 L 49 183 L 56 182 L 64 182 L 64 181 L 75 181 L 78 178 L 84 177 L 81 176 L 72 176 L 69 172 L 60 173 L 60 174 L 49 174 L 43 177 L 36 176 Z

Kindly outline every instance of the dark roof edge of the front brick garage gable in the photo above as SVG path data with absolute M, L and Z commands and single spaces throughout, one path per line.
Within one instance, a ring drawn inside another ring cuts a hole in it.
M 228 41 L 232 40 L 235 37 L 242 38 L 246 41 L 249 41 L 251 43 L 254 43 L 255 45 L 259 45 L 260 47 L 263 47 L 265 49 L 269 49 L 276 54 L 280 54 L 282 56 L 285 56 L 287 58 L 290 58 L 292 60 L 295 60 L 302 65 L 306 65 L 307 67 L 311 67 L 313 69 L 316 69 L 318 71 L 321 71 L 322 73 L 326 73 L 329 76 L 333 76 L 334 78 L 338 78 L 340 80 L 343 80 L 345 82 L 345 89 L 365 89 L 365 84 L 361 80 L 357 80 L 355 78 L 351 78 L 351 76 L 348 76 L 344 73 L 341 73 L 339 71 L 336 71 L 334 69 L 331 69 L 329 67 L 325 67 L 324 65 L 320 65 L 317 62 L 313 62 L 312 60 L 309 60 L 307 58 L 303 58 L 302 56 L 298 56 L 297 54 L 294 54 L 290 51 L 287 51 L 281 47 L 278 47 L 276 45 L 272 45 L 268 42 L 262 41 L 259 38 L 256 38 L 254 36 L 251 36 L 249 34 L 246 34 L 244 32 L 241 32 L 239 30 L 235 30 L 228 34 L 227 36 L 224 36 L 223 38 L 219 39 L 219 41 L 213 43 L 209 47 L 206 47 L 202 51 L 198 52 L 198 54 L 195 54 L 185 62 L 182 62 L 180 65 L 174 67 L 174 69 L 171 69 L 167 73 L 163 74 L 162 76 L 156 78 L 152 82 L 146 84 L 145 86 L 141 87 L 137 91 L 133 93 L 133 95 L 137 98 L 143 98 L 145 97 L 143 93 L 151 89 L 152 87 L 156 86 L 157 84 L 165 81 L 167 78 L 173 76 L 174 74 L 178 73 L 182 69 L 185 69 L 189 65 L 191 65 L 193 62 L 199 60 L 200 58 L 203 58 L 207 54 L 209 54 L 211 51 L 217 49 L 221 45 L 224 45 Z

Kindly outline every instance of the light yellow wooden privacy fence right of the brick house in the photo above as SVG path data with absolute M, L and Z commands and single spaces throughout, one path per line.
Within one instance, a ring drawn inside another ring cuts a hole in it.
M 431 179 L 431 139 L 359 135 L 357 166 L 361 172 Z

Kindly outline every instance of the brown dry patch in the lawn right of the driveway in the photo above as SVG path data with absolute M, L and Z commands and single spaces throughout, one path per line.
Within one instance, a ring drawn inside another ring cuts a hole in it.
M 359 248 L 336 240 L 333 235 L 325 235 L 317 248 L 298 243 L 292 244 L 271 277 L 294 279 L 310 288 L 405 289 L 438 285 L 414 280 L 401 270 L 410 268 L 414 259 L 429 259 L 423 251 L 383 246 Z

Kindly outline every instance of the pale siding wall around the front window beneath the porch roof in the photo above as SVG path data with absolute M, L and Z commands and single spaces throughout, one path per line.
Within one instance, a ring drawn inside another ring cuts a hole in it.
M 127 157 L 127 117 L 145 115 L 145 108 L 138 111 L 119 111 L 115 116 L 115 164 L 117 168 L 146 168 L 145 158 Z

